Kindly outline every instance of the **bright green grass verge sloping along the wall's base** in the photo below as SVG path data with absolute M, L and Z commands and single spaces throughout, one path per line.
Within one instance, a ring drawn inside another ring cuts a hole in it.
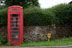
M 23 43 L 20 46 L 62 46 L 62 45 L 72 45 L 72 37 L 56 39 L 50 42 L 42 41 L 42 42 Z

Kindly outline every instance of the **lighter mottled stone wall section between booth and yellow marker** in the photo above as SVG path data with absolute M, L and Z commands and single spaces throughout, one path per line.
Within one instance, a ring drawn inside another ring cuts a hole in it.
M 47 40 L 47 34 L 50 32 L 49 26 L 26 26 L 24 28 L 24 41 L 44 41 Z

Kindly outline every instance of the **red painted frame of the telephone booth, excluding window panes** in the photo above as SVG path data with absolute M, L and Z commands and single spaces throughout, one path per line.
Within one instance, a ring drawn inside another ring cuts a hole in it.
M 20 11 L 11 11 L 11 9 L 19 9 Z M 11 37 L 11 28 L 12 28 L 12 23 L 11 23 L 11 14 L 20 14 L 19 15 L 19 41 L 12 41 L 12 37 Z M 23 43 L 23 8 L 21 6 L 10 6 L 8 8 L 8 43 L 11 43 L 13 45 L 19 45 L 21 43 Z

